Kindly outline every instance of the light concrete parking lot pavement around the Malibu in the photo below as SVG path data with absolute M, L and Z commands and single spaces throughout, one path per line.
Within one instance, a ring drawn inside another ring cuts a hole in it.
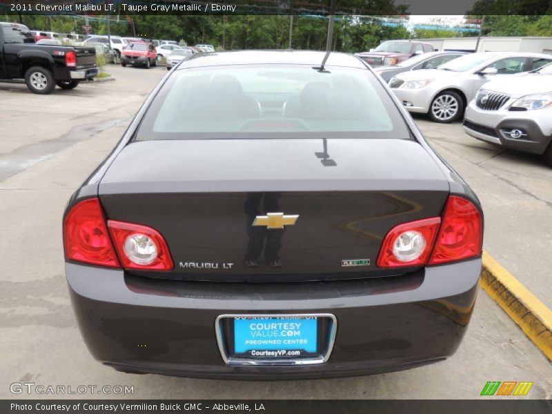
M 116 81 L 52 95 L 0 83 L 1 398 L 13 382 L 133 386 L 136 398 L 478 398 L 488 381 L 531 381 L 552 397 L 552 366 L 480 290 L 459 351 L 410 371 L 334 380 L 237 382 L 117 373 L 86 350 L 72 313 L 61 243 L 66 201 L 110 152 L 165 68 L 110 67 Z M 552 306 L 552 168 L 464 134 L 460 123 L 415 117 L 437 151 L 482 201 L 484 248 Z M 119 397 L 85 394 L 75 397 Z M 69 396 L 70 397 L 70 396 Z

